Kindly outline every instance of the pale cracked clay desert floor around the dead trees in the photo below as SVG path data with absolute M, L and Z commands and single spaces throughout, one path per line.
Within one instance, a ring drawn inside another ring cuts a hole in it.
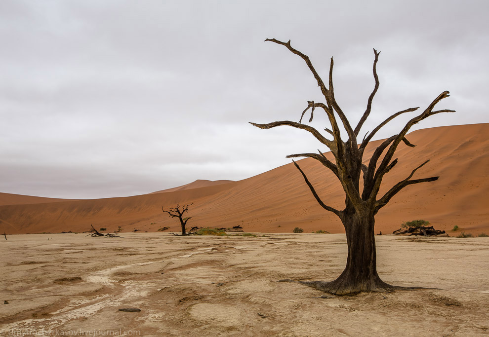
M 384 281 L 440 290 L 321 298 L 320 291 L 276 281 L 338 276 L 344 234 L 122 235 L 2 237 L 0 335 L 489 334 L 486 237 L 377 236 Z

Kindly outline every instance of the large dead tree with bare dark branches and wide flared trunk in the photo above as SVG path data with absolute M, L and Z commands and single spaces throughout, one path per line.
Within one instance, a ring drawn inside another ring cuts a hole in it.
M 379 188 L 384 176 L 398 163 L 398 159 L 394 158 L 394 153 L 399 144 L 404 142 L 407 146 L 414 147 L 414 145 L 409 143 L 406 139 L 406 134 L 409 129 L 414 124 L 436 113 L 454 112 L 452 110 L 434 110 L 435 105 L 438 102 L 448 97 L 448 91 L 442 92 L 423 112 L 411 118 L 398 134 L 393 135 L 382 142 L 374 150 L 370 159 L 366 161 L 366 164 L 364 164 L 364 150 L 372 137 L 374 137 L 384 125 L 395 117 L 407 112 L 414 112 L 419 109 L 419 107 L 409 108 L 394 113 L 380 123 L 370 133 L 367 133 L 361 142 L 357 142 L 360 129 L 370 114 L 372 100 L 379 88 L 379 79 L 377 76 L 376 66 L 380 52 L 377 52 L 375 49 L 373 50 L 375 55 L 375 59 L 373 61 L 373 77 L 375 79 L 375 86 L 372 93 L 368 97 L 367 107 L 360 118 L 360 121 L 355 127 L 352 127 L 350 121 L 347 119 L 345 113 L 341 110 L 334 98 L 332 76 L 333 58 L 331 58 L 330 61 L 329 81 L 326 84 L 317 73 L 316 69 L 314 69 L 309 57 L 297 49 L 294 49 L 290 45 L 290 40 L 288 42 L 282 42 L 272 38 L 266 39 L 265 41 L 271 41 L 285 46 L 290 52 L 298 55 L 306 63 L 307 67 L 314 75 L 326 103 L 314 101 L 307 102 L 307 107 L 302 112 L 299 122 L 284 120 L 268 124 L 251 124 L 259 127 L 260 129 L 270 129 L 277 126 L 288 125 L 310 132 L 319 142 L 326 145 L 326 147 L 331 151 L 334 156 L 334 162 L 328 160 L 321 151 L 319 151 L 319 153 L 291 154 L 288 155 L 287 158 L 311 157 L 318 160 L 327 169 L 333 172 L 333 174 L 338 178 L 345 192 L 345 208 L 343 210 L 338 210 L 326 205 L 326 203 L 319 197 L 318 193 L 316 193 L 316 190 L 309 182 L 306 174 L 302 171 L 299 165 L 293 161 L 295 167 L 303 176 L 307 186 L 310 188 L 318 203 L 326 211 L 334 213 L 343 223 L 348 244 L 348 259 L 346 267 L 343 273 L 336 280 L 331 282 L 314 281 L 300 283 L 336 295 L 354 294 L 363 291 L 385 291 L 400 288 L 383 282 L 377 273 L 374 233 L 375 215 L 404 187 L 413 184 L 432 182 L 437 180 L 439 177 L 412 179 L 414 173 L 425 165 L 428 162 L 427 160 L 414 168 L 406 179 L 391 187 L 384 195 L 378 195 Z M 302 123 L 302 118 L 308 110 L 311 110 L 309 122 L 312 121 L 315 109 L 321 109 L 321 111 L 324 111 L 329 119 L 330 128 L 324 129 L 329 134 L 328 137 L 325 137 L 317 129 Z M 346 141 L 341 139 L 340 123 L 348 134 L 348 139 Z M 361 188 L 360 177 L 362 174 L 363 187 Z

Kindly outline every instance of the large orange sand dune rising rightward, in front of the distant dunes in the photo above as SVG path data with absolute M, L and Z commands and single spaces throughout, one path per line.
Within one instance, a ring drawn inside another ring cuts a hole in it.
M 417 145 L 399 146 L 397 166 L 384 178 L 381 193 L 405 179 L 426 159 L 414 178 L 440 176 L 433 183 L 406 187 L 380 210 L 376 231 L 398 229 L 404 221 L 423 219 L 437 229 L 458 225 L 466 232 L 489 233 L 489 124 L 445 126 L 410 133 Z M 305 135 L 307 137 L 307 134 Z M 366 150 L 368 159 L 375 146 Z M 331 153 L 326 153 L 331 157 Z M 367 161 L 367 159 L 365 161 Z M 316 160 L 298 162 L 326 204 L 342 208 L 344 194 L 336 178 Z M 300 173 L 287 164 L 255 177 L 208 187 L 139 196 L 60 201 L 44 204 L 0 206 L 0 231 L 35 233 L 83 231 L 90 224 L 109 231 L 121 226 L 156 231 L 163 226 L 178 231 L 175 219 L 163 214 L 177 203 L 194 203 L 189 225 L 229 227 L 246 231 L 290 232 L 296 226 L 305 232 L 323 229 L 344 232 L 338 219 L 321 208 Z M 455 233 L 456 234 L 456 233 Z

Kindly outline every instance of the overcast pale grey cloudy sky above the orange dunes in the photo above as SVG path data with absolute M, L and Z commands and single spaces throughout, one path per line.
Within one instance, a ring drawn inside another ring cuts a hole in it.
M 0 1 L 0 191 L 61 198 L 241 180 L 315 151 L 298 121 L 321 93 L 291 39 L 363 135 L 450 91 L 427 128 L 488 122 L 489 2 Z M 391 122 L 378 138 L 406 122 Z M 313 125 L 328 126 L 317 114 Z M 326 148 L 321 148 L 326 151 Z

